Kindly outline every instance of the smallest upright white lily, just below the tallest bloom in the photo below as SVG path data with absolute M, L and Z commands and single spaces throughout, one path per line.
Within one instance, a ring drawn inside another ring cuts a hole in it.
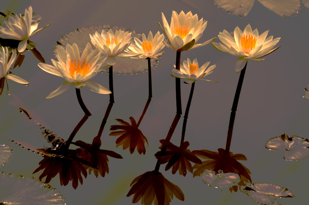
M 191 63 L 190 59 L 188 58 L 187 61 L 184 60 L 183 65 L 180 65 L 180 70 L 173 69 L 171 76 L 176 78 L 184 78 L 187 79 L 184 83 L 193 83 L 196 80 L 205 80 L 202 79 L 205 76 L 208 76 L 210 73 L 212 73 L 213 69 L 216 68 L 216 65 L 210 66 L 207 70 L 207 66 L 210 64 L 210 62 L 205 63 L 201 66 L 201 68 L 198 67 L 197 59 L 193 60 L 193 63 Z M 176 67 L 176 65 L 174 65 Z M 207 80 L 211 81 L 211 80 Z M 217 82 L 217 81 L 211 81 L 211 82 Z

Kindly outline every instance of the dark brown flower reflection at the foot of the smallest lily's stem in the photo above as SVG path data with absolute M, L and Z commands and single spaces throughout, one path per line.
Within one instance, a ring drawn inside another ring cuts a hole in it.
M 202 161 L 197 158 L 188 148 L 190 145 L 188 141 L 183 143 L 183 146 L 178 147 L 167 140 L 160 140 L 161 142 L 161 151 L 155 154 L 156 158 L 159 160 L 160 164 L 167 163 L 165 167 L 165 171 L 172 168 L 172 174 L 175 174 L 177 170 L 179 170 L 180 175 L 186 175 L 187 170 L 193 173 L 193 167 L 191 162 L 196 164 L 201 164 Z M 165 149 L 162 149 L 165 147 Z M 191 162 L 190 162 L 191 161 Z

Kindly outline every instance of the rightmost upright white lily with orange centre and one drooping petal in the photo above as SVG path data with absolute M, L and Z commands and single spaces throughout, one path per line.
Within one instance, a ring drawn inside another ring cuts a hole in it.
M 280 38 L 273 39 L 273 36 L 266 38 L 267 34 L 268 31 L 265 31 L 259 35 L 257 29 L 252 31 L 250 24 L 248 24 L 243 32 L 239 27 L 236 27 L 234 37 L 226 30 L 219 32 L 218 38 L 224 45 L 221 43 L 212 44 L 219 51 L 239 56 L 235 65 L 235 71 L 239 72 L 244 68 L 248 60 L 262 61 L 264 59 L 260 58 L 280 47 L 273 48 L 279 42 Z

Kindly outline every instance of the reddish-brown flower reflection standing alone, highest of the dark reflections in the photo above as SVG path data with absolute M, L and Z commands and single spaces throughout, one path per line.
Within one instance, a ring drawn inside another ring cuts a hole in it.
M 139 154 L 145 154 L 145 141 L 148 146 L 147 138 L 143 135 L 142 131 L 138 129 L 138 125 L 133 117 L 129 117 L 131 121 L 131 125 L 123 121 L 121 119 L 116 119 L 116 121 L 120 122 L 121 125 L 111 125 L 110 130 L 122 129 L 121 131 L 111 132 L 109 135 L 118 136 L 116 139 L 116 147 L 121 146 L 125 150 L 129 148 L 130 153 L 132 154 L 137 147 L 137 151 Z

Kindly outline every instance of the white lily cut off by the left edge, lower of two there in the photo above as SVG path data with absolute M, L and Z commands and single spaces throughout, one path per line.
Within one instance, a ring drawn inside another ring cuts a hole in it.
M 11 65 L 14 63 L 15 59 L 16 59 L 16 50 L 12 51 L 12 55 L 10 57 L 9 60 L 9 51 L 6 48 L 6 50 L 4 49 L 4 47 L 2 47 L 2 52 L 0 51 L 0 95 L 3 92 L 3 88 L 4 88 L 4 81 L 6 79 L 9 80 L 13 80 L 17 83 L 20 84 L 29 84 L 29 82 L 27 82 L 26 80 L 14 75 L 13 73 L 9 72 L 9 69 L 11 67 Z M 7 88 L 9 89 L 9 88 Z

